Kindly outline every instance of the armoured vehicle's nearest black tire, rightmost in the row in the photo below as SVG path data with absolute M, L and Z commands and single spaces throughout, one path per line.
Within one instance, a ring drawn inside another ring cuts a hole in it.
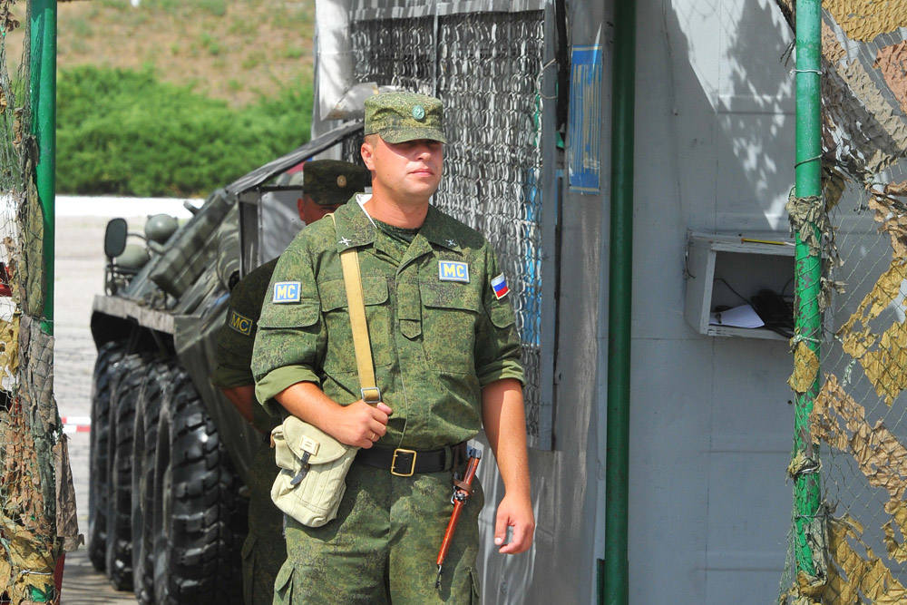
M 154 598 L 239 602 L 246 510 L 233 470 L 189 375 L 165 389 L 155 459 Z

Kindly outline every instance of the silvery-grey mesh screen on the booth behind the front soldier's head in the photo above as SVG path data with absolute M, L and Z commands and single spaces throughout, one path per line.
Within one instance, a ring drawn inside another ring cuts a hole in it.
M 449 144 L 434 204 L 481 231 L 498 253 L 522 335 L 531 439 L 542 408 L 543 44 L 538 10 L 352 21 L 357 82 L 444 101 Z

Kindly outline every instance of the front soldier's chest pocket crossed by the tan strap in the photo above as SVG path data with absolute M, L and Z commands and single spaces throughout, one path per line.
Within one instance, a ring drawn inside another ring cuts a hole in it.
M 331 279 L 318 284 L 321 310 L 327 326 L 327 373 L 356 373 L 356 351 L 353 329 L 349 325 L 346 286 L 343 279 Z M 368 338 L 372 345 L 375 367 L 389 366 L 393 359 L 391 346 L 391 313 L 387 300 L 387 278 L 362 278 L 363 300 L 366 303 Z

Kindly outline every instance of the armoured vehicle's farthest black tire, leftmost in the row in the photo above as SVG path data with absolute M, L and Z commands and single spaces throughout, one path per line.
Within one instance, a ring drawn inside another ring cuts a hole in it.
M 108 449 L 110 438 L 111 382 L 126 346 L 108 342 L 98 349 L 92 376 L 92 432 L 89 437 L 88 558 L 103 572 L 107 551 L 107 502 L 109 497 Z

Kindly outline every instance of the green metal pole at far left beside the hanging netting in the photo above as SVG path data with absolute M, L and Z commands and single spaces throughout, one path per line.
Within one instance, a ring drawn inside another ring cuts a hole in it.
M 44 213 L 44 308 L 41 328 L 54 334 L 54 195 L 56 158 L 56 0 L 33 0 L 31 41 L 32 132 L 37 138 L 35 183 Z

